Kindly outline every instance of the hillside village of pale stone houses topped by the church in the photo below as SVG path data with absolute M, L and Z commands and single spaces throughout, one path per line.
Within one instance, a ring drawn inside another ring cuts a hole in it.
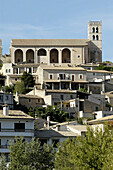
M 101 21 L 88 22 L 88 39 L 12 39 L 8 55 L 0 40 L 0 59 L 0 154 L 7 160 L 15 136 L 56 147 L 85 135 L 87 124 L 103 129 L 106 121 L 113 123 L 113 63 L 102 62 Z M 26 93 L 4 90 L 21 83 L 24 72 L 34 79 Z M 37 107 L 58 108 L 66 120 L 29 115 Z

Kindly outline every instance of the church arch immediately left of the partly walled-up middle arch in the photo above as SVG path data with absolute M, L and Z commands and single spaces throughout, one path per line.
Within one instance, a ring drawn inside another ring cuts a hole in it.
M 26 62 L 34 63 L 34 51 L 31 49 L 26 51 Z

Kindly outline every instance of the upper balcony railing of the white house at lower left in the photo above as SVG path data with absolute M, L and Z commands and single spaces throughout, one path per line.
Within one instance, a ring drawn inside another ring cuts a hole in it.
M 26 132 L 33 133 L 34 129 L 0 129 L 0 132 Z

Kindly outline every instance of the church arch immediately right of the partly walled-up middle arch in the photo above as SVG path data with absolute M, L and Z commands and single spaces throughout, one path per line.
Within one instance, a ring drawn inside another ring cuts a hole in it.
M 58 63 L 58 50 L 52 49 L 50 51 L 50 63 Z

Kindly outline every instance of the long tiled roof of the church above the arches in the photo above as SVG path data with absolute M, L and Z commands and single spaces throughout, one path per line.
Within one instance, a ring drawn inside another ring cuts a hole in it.
M 12 39 L 12 46 L 86 46 L 88 39 Z

